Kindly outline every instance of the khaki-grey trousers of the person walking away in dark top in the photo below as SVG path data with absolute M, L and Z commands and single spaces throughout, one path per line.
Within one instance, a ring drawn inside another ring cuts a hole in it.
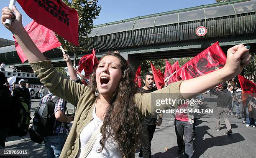
M 228 120 L 228 109 L 227 108 L 222 108 L 222 107 L 217 107 L 217 116 L 215 118 L 215 129 L 220 130 L 220 115 L 223 115 L 224 117 L 224 122 L 227 127 L 228 131 L 231 131 L 231 125 Z

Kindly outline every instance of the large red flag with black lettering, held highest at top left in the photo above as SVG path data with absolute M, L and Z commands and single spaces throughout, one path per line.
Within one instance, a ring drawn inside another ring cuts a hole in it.
M 78 43 L 77 10 L 69 8 L 62 0 L 17 0 L 27 15 L 38 24 L 73 43 Z

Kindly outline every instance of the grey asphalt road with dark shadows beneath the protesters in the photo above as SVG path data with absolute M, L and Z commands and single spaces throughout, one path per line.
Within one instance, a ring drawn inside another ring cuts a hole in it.
M 215 98 L 205 96 L 206 107 L 216 106 Z M 33 103 L 36 107 L 38 103 Z M 68 104 L 68 109 L 72 105 Z M 33 108 L 32 108 L 33 109 Z M 203 115 L 197 120 L 196 133 L 194 140 L 194 157 L 195 158 L 256 158 L 256 128 L 246 127 L 241 123 L 241 119 L 234 116 L 228 116 L 233 135 L 225 135 L 226 127 L 221 119 L 220 131 L 214 128 L 214 114 Z M 72 125 L 72 124 L 70 124 Z M 42 158 L 46 157 L 44 143 L 38 144 L 31 142 L 29 135 L 26 137 L 8 137 L 6 149 L 28 149 L 29 156 L 22 158 Z M 174 130 L 174 119 L 164 114 L 163 123 L 157 126 L 154 138 L 151 141 L 152 158 L 178 158 L 177 140 Z M 138 153 L 136 153 L 138 157 Z

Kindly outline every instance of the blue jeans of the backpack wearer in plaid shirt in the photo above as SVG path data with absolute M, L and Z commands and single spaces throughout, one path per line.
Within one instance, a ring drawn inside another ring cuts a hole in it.
M 56 135 L 44 137 L 47 158 L 59 158 L 66 140 L 67 133 L 56 133 Z

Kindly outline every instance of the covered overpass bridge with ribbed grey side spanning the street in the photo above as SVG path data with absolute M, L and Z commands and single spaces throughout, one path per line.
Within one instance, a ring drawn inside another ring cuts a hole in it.
M 196 35 L 199 26 L 207 28 L 205 36 Z M 96 25 L 88 38 L 80 45 L 95 48 L 97 57 L 118 50 L 134 66 L 147 59 L 195 56 L 216 41 L 224 52 L 245 44 L 255 53 L 256 0 L 233 0 Z M 88 53 L 77 52 L 78 59 Z M 74 56 L 73 52 L 68 54 Z M 56 67 L 66 65 L 58 48 L 44 55 Z M 0 61 L 29 68 L 28 63 L 21 64 L 14 45 L 0 48 Z

